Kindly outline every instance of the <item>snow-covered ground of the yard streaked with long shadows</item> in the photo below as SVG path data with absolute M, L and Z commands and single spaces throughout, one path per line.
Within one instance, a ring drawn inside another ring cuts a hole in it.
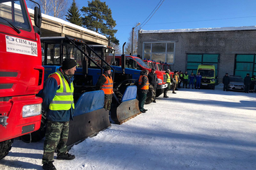
M 256 93 L 169 91 L 146 113 L 74 146 L 57 169 L 256 169 Z M 42 169 L 43 141 L 15 140 L 0 169 Z

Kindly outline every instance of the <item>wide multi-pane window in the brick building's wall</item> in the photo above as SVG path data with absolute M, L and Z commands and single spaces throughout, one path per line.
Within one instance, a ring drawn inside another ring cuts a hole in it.
M 174 42 L 144 42 L 143 59 L 151 59 L 156 62 L 174 62 Z

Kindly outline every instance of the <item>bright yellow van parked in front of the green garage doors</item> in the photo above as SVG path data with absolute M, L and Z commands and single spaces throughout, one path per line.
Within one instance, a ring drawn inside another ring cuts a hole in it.
M 201 87 L 209 87 L 215 89 L 215 66 L 212 64 L 200 64 L 197 73 L 202 75 Z

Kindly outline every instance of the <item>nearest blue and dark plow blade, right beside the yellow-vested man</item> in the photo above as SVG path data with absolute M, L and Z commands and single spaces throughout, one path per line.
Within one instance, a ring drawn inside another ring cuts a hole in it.
M 104 97 L 103 91 L 90 91 L 79 97 L 73 120 L 69 122 L 69 149 L 110 126 L 109 111 L 103 108 Z

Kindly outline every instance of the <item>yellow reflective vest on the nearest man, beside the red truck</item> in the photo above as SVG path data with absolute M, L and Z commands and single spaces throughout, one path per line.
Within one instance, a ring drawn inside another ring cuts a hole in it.
M 56 95 L 53 97 L 53 101 L 49 105 L 49 109 L 52 111 L 67 111 L 71 108 L 75 108 L 74 104 L 74 85 L 71 82 L 71 88 L 65 77 L 57 71 L 56 74 L 60 78 L 60 88 L 56 91 Z

